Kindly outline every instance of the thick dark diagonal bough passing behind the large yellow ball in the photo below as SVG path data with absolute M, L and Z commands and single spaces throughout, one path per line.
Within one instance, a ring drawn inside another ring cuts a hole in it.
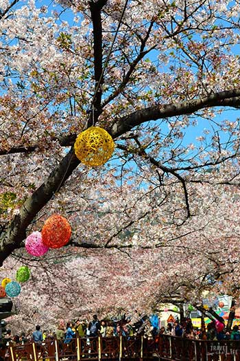
M 206 107 L 232 106 L 240 105 L 240 90 L 232 89 L 211 94 L 204 98 L 189 100 L 178 104 L 169 104 L 163 107 L 156 106 L 141 111 L 135 111 L 125 118 L 116 120 L 111 129 L 108 131 L 112 134 L 112 138 L 118 138 L 126 131 L 136 127 L 137 125 L 149 120 L 157 120 L 160 118 L 169 118 L 180 114 L 190 114 Z M 69 138 L 70 139 L 70 138 Z M 75 136 L 71 137 L 71 143 L 74 142 Z M 67 145 L 67 140 L 64 140 Z M 38 212 L 53 197 L 54 193 L 59 190 L 65 180 L 71 175 L 80 162 L 75 157 L 73 150 L 63 158 L 58 166 L 51 172 L 46 182 L 44 182 L 30 196 L 20 209 L 20 214 L 16 215 L 10 226 L 2 232 L 0 237 L 0 264 L 11 254 L 11 252 L 19 248 L 23 239 L 27 226 L 32 222 Z M 88 245 L 85 245 L 89 248 Z

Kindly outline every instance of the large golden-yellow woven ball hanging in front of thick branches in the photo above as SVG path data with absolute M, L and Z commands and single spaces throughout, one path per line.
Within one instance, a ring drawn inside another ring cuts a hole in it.
M 86 129 L 74 144 L 76 157 L 86 166 L 102 166 L 110 159 L 114 148 L 111 135 L 100 127 Z

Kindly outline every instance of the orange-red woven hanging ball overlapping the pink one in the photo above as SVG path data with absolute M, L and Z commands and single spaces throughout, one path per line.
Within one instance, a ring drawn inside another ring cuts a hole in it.
M 71 226 L 61 215 L 51 215 L 42 229 L 43 244 L 49 248 L 61 248 L 69 242 Z

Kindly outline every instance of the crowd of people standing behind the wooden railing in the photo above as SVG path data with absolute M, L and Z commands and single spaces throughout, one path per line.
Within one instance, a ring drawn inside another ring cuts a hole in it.
M 158 318 L 153 320 L 148 316 L 141 316 L 139 320 L 133 322 L 125 315 L 120 320 L 99 320 L 97 315 L 93 315 L 91 322 L 77 319 L 75 322 L 65 322 L 61 320 L 54 331 L 41 330 L 40 325 L 36 325 L 35 331 L 28 333 L 21 332 L 19 335 L 12 335 L 7 329 L 2 337 L 2 344 L 5 346 L 25 344 L 34 341 L 36 344 L 44 342 L 46 339 L 56 338 L 58 341 L 69 344 L 76 336 L 80 338 L 88 337 L 115 337 L 115 336 L 143 336 L 154 338 L 159 334 L 178 336 L 191 339 L 202 340 L 240 340 L 240 325 L 235 325 L 228 331 L 225 325 L 218 320 L 210 322 L 206 329 L 193 327 L 191 318 L 186 318 L 183 322 L 178 319 L 174 323 L 168 323 L 167 327 L 159 327 Z

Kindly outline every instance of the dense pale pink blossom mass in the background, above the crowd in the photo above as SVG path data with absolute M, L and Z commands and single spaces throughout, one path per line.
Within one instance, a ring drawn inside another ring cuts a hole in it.
M 122 228 L 112 247 L 106 242 L 104 249 L 100 245 L 108 240 L 106 218 L 108 223 L 117 223 L 119 230 L 125 222 L 119 217 L 117 202 L 112 202 L 111 212 L 99 215 L 97 223 L 83 210 L 83 223 L 95 234 L 99 229 L 102 232 L 96 250 L 69 246 L 64 254 L 52 251 L 40 261 L 15 253 L 3 263 L 5 275 L 12 278 L 23 261 L 32 270 L 31 280 L 22 285 L 16 298 L 19 314 L 11 324 L 20 322 L 25 328 L 40 322 L 53 327 L 56 318 L 89 318 L 96 311 L 99 316 L 120 312 L 131 316 L 135 309 L 149 314 L 170 301 L 201 307 L 206 291 L 210 298 L 219 294 L 239 298 L 239 196 L 237 188 L 230 190 L 208 184 L 195 187 L 191 197 L 195 215 L 181 227 L 174 225 L 167 202 L 156 208 L 150 193 L 148 220 L 139 217 Z M 208 201 L 200 208 L 197 199 L 203 193 L 208 194 Z M 175 200 L 173 209 L 178 197 Z M 139 200 L 141 208 L 145 201 Z

